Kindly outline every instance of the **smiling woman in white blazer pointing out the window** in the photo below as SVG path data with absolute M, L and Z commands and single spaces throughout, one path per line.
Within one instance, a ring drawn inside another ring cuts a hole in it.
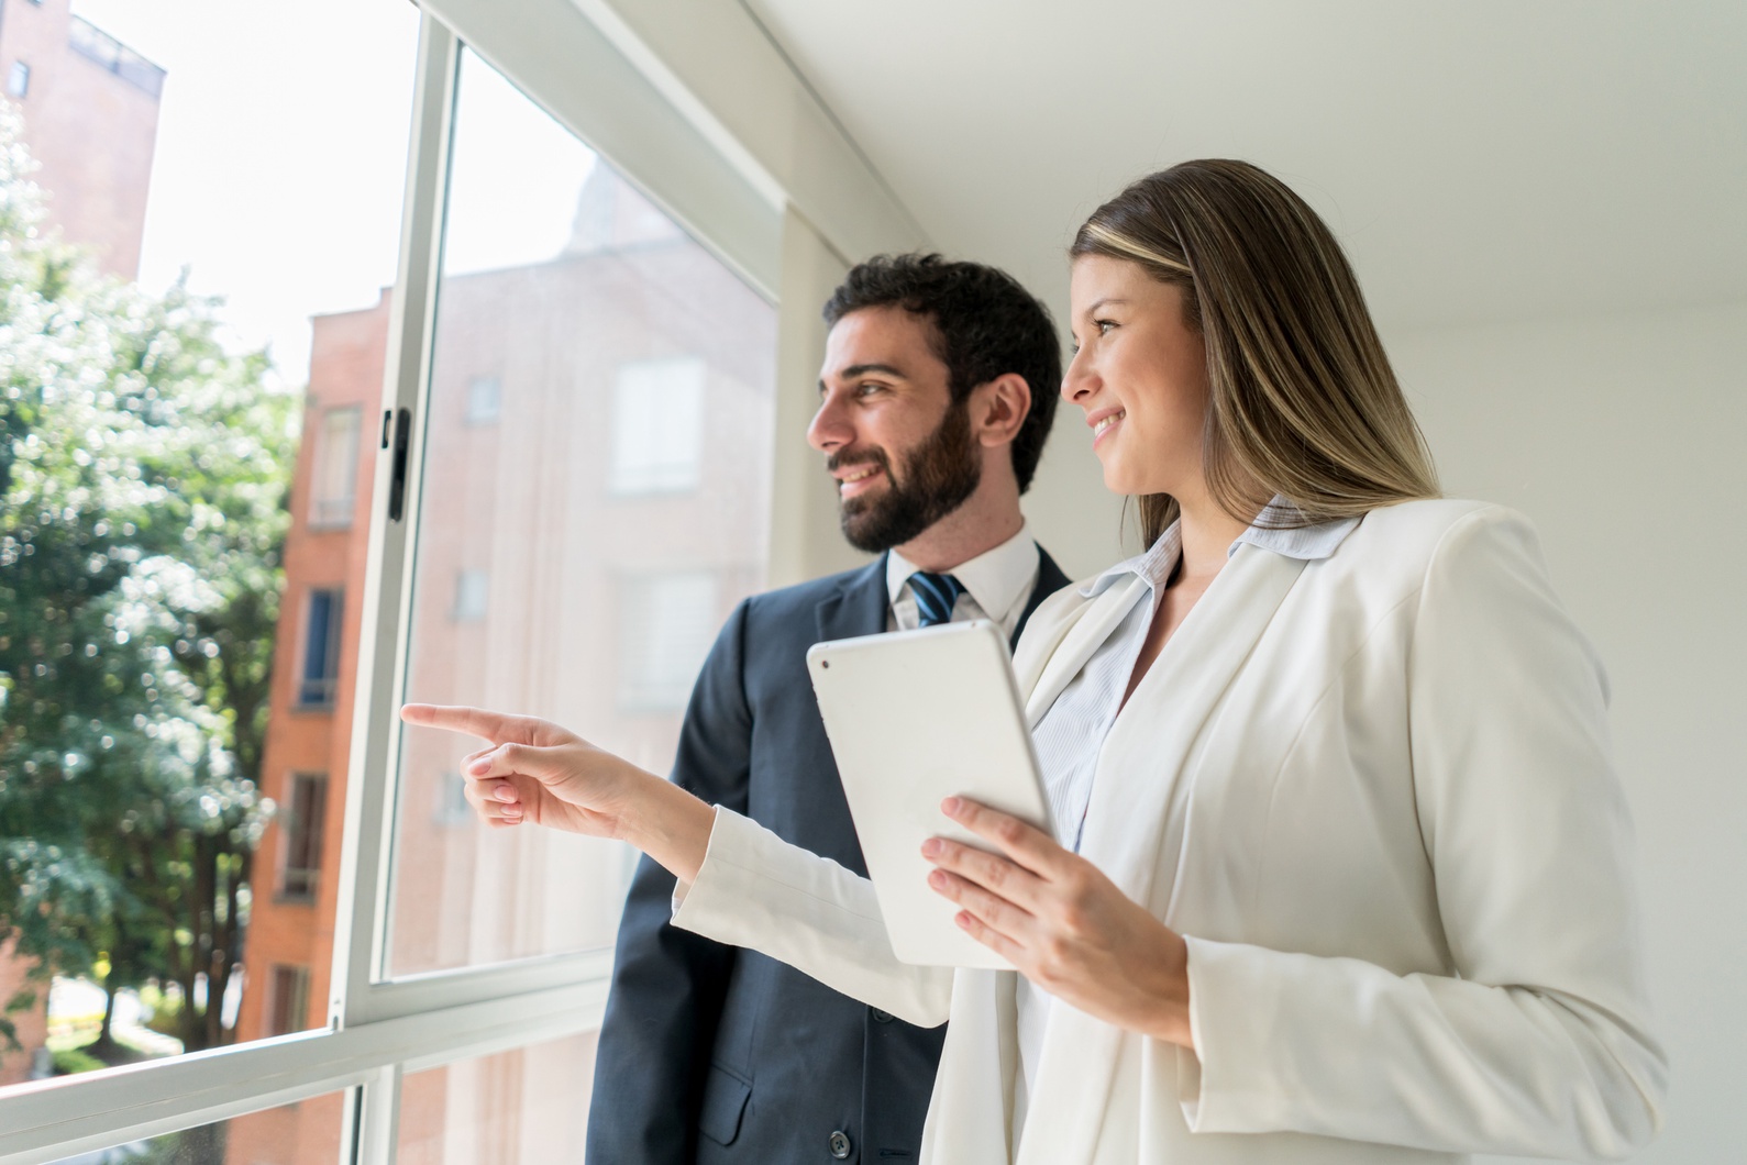
M 949 802 L 959 924 L 1022 975 L 898 964 L 870 884 L 542 721 L 470 796 L 631 840 L 674 924 L 917 1024 L 924 1156 L 1611 1158 L 1660 1123 L 1605 688 L 1529 524 L 1438 500 L 1357 283 L 1267 173 L 1186 162 L 1073 245 L 1104 482 L 1151 548 L 1015 653 L 1057 835 Z

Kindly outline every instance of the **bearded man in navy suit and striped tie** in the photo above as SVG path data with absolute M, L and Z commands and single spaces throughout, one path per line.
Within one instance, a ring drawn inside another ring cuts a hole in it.
M 807 440 L 868 568 L 742 603 L 687 709 L 673 779 L 867 873 L 807 679 L 807 648 L 952 618 L 1013 638 L 1067 578 L 1025 533 L 1055 414 L 1045 307 L 991 267 L 875 259 L 825 306 Z M 589 1111 L 590 1165 L 915 1160 L 943 1029 L 667 924 L 643 859 L 618 929 Z

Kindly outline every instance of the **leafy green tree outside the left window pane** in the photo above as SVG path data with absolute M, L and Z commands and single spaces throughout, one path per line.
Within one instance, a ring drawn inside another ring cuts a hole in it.
M 299 402 L 217 300 L 45 239 L 30 169 L 0 114 L 0 947 L 38 982 L 107 954 L 112 1004 L 176 983 L 183 1046 L 215 1046 L 273 809 Z

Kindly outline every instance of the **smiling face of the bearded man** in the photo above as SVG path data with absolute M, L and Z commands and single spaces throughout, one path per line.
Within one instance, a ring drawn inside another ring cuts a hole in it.
M 968 402 L 952 403 L 933 323 L 863 307 L 832 327 L 807 442 L 837 479 L 844 538 L 901 547 L 959 508 L 982 479 Z

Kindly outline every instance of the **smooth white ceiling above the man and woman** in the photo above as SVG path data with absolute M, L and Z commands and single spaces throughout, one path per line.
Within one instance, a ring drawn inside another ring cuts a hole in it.
M 744 0 L 936 246 L 1060 309 L 1127 180 L 1242 157 L 1385 325 L 1747 300 L 1747 2 Z

